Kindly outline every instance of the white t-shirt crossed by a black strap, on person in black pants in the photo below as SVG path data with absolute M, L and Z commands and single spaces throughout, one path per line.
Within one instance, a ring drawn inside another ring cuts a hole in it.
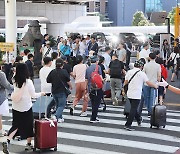
M 139 68 L 134 68 L 129 70 L 125 76 L 125 80 L 130 80 L 135 72 L 140 70 Z M 148 81 L 147 75 L 140 71 L 138 72 L 128 85 L 127 97 L 130 99 L 141 99 L 142 87 L 145 82 Z

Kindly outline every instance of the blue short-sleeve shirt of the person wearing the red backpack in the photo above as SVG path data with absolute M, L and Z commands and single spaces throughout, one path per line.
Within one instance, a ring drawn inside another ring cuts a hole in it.
M 91 86 L 91 74 L 92 74 L 92 72 L 94 72 L 95 69 L 96 69 L 96 64 L 92 64 L 91 66 L 89 66 L 89 68 L 86 69 L 85 78 L 88 80 L 88 90 L 90 90 L 90 86 Z M 98 66 L 98 73 L 99 73 L 99 75 L 102 75 L 100 66 Z

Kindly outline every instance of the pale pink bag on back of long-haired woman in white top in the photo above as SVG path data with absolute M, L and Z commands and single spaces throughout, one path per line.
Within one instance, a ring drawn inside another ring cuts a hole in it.
M 24 84 L 22 85 L 22 87 L 20 89 L 14 90 L 11 94 L 11 100 L 14 103 L 18 103 L 23 95 L 23 91 L 24 91 Z

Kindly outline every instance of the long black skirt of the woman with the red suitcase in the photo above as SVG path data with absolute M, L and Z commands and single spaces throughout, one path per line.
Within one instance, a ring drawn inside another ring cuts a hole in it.
M 19 112 L 12 109 L 13 121 L 8 136 L 18 129 L 15 136 L 21 136 L 21 139 L 33 137 L 33 112 L 32 108 L 25 112 Z M 15 137 L 14 136 L 14 137 Z

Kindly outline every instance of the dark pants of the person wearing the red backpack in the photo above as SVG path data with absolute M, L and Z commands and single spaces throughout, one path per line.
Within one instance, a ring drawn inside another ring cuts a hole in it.
M 89 96 L 92 103 L 92 115 L 90 120 L 95 121 L 98 114 L 98 108 L 101 103 L 101 99 L 103 97 L 103 91 L 102 89 L 92 90 Z

